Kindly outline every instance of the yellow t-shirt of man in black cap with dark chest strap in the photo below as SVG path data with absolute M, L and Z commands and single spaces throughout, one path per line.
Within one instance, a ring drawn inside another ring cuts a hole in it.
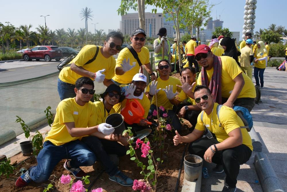
M 139 53 L 137 53 L 137 55 L 139 57 L 139 60 L 141 61 L 141 64 L 145 65 L 145 64 L 150 63 L 150 53 L 148 51 L 148 48 L 142 47 L 141 51 Z M 131 51 L 129 51 L 128 48 L 124 48 L 119 53 L 116 67 L 121 67 L 121 64 L 123 63 L 124 59 L 130 59 L 129 64 L 130 65 L 135 64 L 135 67 L 133 67 L 131 70 L 125 72 L 125 74 L 123 74 L 123 75 L 115 74 L 115 76 L 113 77 L 113 80 L 117 81 L 121 84 L 128 84 L 133 79 L 133 76 L 135 74 L 139 73 L 140 66 L 137 63 L 137 59 L 135 59 L 135 57 L 133 57 L 133 54 L 131 54 Z

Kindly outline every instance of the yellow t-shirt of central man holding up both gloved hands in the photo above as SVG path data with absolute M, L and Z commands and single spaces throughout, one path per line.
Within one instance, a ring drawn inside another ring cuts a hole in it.
M 156 89 L 162 88 L 162 89 L 166 89 L 166 86 L 168 87 L 168 85 L 172 85 L 173 89 L 173 93 L 177 92 L 181 92 L 181 88 L 177 87 L 177 85 L 181 85 L 181 82 L 178 78 L 175 77 L 169 77 L 168 80 L 162 80 L 161 78 L 158 78 L 157 80 L 158 85 L 156 87 Z M 151 85 L 152 82 L 150 82 Z M 148 85 L 147 92 L 150 91 L 150 86 Z M 158 107 L 159 106 L 163 106 L 165 109 L 172 109 L 173 105 L 170 103 L 170 101 L 168 100 L 168 98 L 166 97 L 166 94 L 163 90 L 160 90 L 158 93 L 156 93 L 156 97 L 153 96 L 152 97 L 152 104 L 156 105 L 156 98 L 157 98 L 157 103 L 158 103 Z

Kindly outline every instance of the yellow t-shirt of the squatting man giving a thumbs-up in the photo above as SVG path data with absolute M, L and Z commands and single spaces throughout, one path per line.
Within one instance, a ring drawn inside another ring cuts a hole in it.
M 230 131 L 240 126 L 244 126 L 244 123 L 242 122 L 241 118 L 237 116 L 233 109 L 224 105 L 221 107 L 219 112 L 219 122 L 216 112 L 217 105 L 218 103 L 214 103 L 212 113 L 209 115 L 207 115 L 204 111 L 201 112 L 203 113 L 202 121 L 201 113 L 198 115 L 195 129 L 204 131 L 206 126 L 210 132 L 215 134 L 217 141 L 222 142 L 229 137 L 228 133 L 230 133 Z M 221 123 L 221 127 L 218 126 L 219 123 Z M 251 137 L 248 134 L 246 128 L 240 128 L 240 130 L 243 139 L 242 144 L 253 150 Z

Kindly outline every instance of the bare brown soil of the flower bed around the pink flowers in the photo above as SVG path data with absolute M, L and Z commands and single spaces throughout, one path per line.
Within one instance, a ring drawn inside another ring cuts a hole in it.
M 180 77 L 179 74 L 175 74 L 172 76 Z M 190 131 L 188 128 L 191 127 L 190 123 L 187 120 L 183 119 L 183 135 L 186 135 Z M 184 146 L 183 144 L 180 144 L 179 146 L 174 146 L 172 137 L 174 136 L 174 133 L 168 134 L 166 141 L 167 152 L 165 154 L 166 158 L 164 158 L 164 162 L 160 164 L 159 170 L 157 173 L 157 189 L 156 191 L 174 191 L 177 183 L 177 177 L 179 174 L 181 159 L 183 155 Z M 151 144 L 153 146 L 153 144 Z M 156 151 L 156 149 L 152 149 Z M 137 149 L 137 155 L 140 157 L 140 151 Z M 159 155 L 155 152 L 154 154 L 157 157 Z M 35 183 L 31 182 L 29 185 L 23 188 L 18 188 L 15 186 L 15 181 L 20 176 L 19 170 L 22 167 L 29 168 L 33 165 L 36 165 L 36 159 L 34 157 L 28 158 L 24 157 L 22 153 L 19 153 L 17 155 L 14 155 L 11 157 L 11 164 L 15 166 L 15 171 L 13 174 L 10 175 L 10 178 L 5 178 L 4 176 L 0 176 L 0 191 L 37 191 L 42 192 L 45 187 L 49 183 L 53 185 L 52 191 L 69 191 L 69 185 L 63 185 L 60 183 L 59 178 L 62 174 L 69 174 L 67 170 L 64 169 L 63 164 L 65 160 L 61 160 L 59 164 L 54 168 L 54 171 L 52 172 L 52 175 L 49 178 L 49 181 L 45 183 Z M 122 170 L 126 175 L 128 175 L 130 178 L 133 179 L 143 179 L 143 176 L 140 174 L 141 168 L 137 167 L 135 162 L 131 161 L 129 155 L 125 155 L 124 157 L 120 158 L 119 163 L 119 169 Z M 147 160 L 144 158 L 140 159 L 144 163 Z M 98 165 L 98 164 L 97 164 Z M 96 179 L 96 177 L 101 172 L 100 166 L 95 166 L 96 170 L 94 170 L 93 166 L 90 167 L 81 167 L 87 175 L 89 175 L 90 184 L 86 184 L 85 188 L 87 189 L 91 183 Z M 183 168 L 182 168 L 183 169 Z M 181 172 L 180 181 L 178 185 L 178 191 L 181 191 L 181 187 L 183 185 L 183 177 L 184 177 L 184 170 Z M 72 178 L 74 178 L 71 175 Z M 99 177 L 99 179 L 94 183 L 91 189 L 96 189 L 98 187 L 102 187 L 106 191 L 133 191 L 131 187 L 124 187 L 121 186 L 113 181 L 110 181 L 108 179 L 108 174 L 105 172 Z

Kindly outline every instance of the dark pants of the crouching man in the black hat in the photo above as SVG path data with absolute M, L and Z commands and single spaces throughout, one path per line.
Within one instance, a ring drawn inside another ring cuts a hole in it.
M 123 156 L 127 152 L 125 146 L 119 144 L 117 141 L 99 139 L 95 136 L 83 137 L 81 141 L 86 143 L 95 153 L 97 160 L 102 162 L 108 175 L 114 176 L 119 171 L 118 167 L 110 160 L 108 154 L 116 154 L 119 157 Z

